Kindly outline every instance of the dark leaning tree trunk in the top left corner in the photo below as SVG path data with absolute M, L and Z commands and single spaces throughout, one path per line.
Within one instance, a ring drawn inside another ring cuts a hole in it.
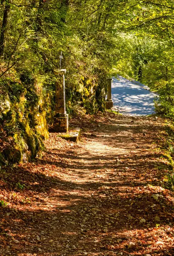
M 8 29 L 8 21 L 9 21 L 9 14 L 10 14 L 10 4 L 11 4 L 11 0 L 6 0 L 6 5 L 4 10 L 4 15 L 3 15 L 3 23 L 1 27 L 1 33 L 0 33 L 0 56 L 4 55 L 6 33 Z

